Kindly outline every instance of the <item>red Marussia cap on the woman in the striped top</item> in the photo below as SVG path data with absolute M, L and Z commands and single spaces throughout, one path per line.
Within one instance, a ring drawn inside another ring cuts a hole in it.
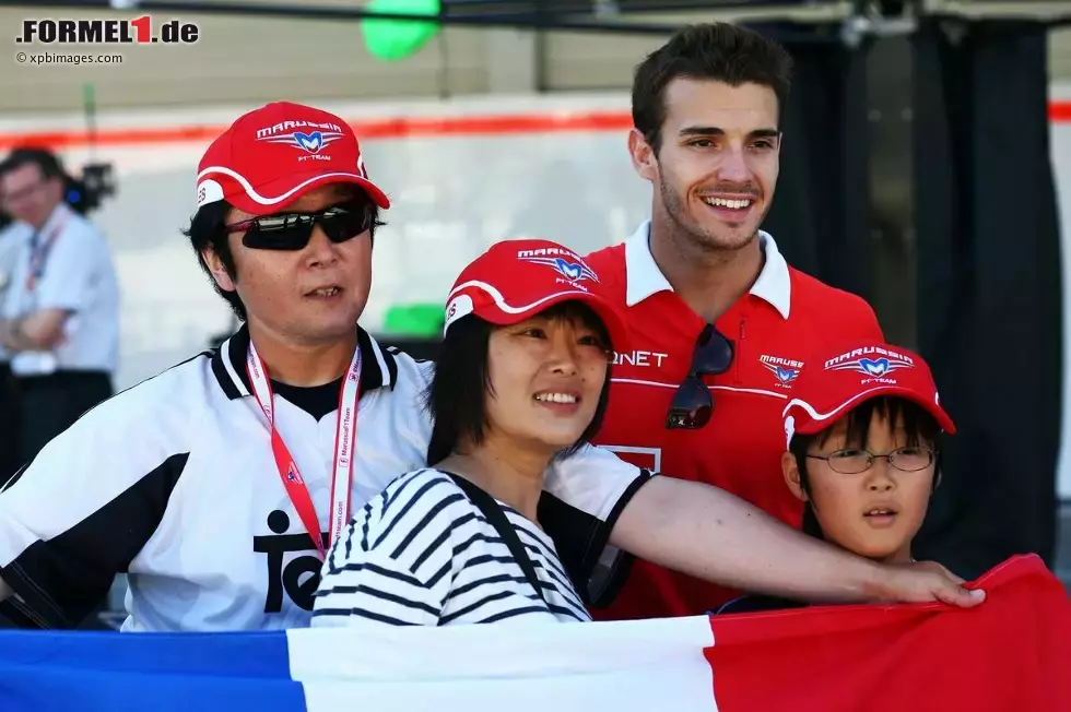
M 628 330 L 621 308 L 580 256 L 550 240 L 504 240 L 461 271 L 446 298 L 445 330 L 467 315 L 499 327 L 516 324 L 570 299 L 591 307 L 613 347 L 623 347 Z

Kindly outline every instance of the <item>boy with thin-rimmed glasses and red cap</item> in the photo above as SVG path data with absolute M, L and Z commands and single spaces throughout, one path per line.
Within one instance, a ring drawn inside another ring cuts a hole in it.
M 883 563 L 911 563 L 911 541 L 940 482 L 955 426 L 926 361 L 888 344 L 815 353 L 785 407 L 787 491 L 804 532 Z M 743 596 L 718 613 L 803 605 Z

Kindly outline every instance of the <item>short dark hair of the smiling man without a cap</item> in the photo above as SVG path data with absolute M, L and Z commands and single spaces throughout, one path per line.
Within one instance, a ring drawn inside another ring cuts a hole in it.
M 729 23 L 688 25 L 636 67 L 632 85 L 632 119 L 655 153 L 661 147 L 666 121 L 666 87 L 686 78 L 768 86 L 785 106 L 792 58 L 778 43 Z

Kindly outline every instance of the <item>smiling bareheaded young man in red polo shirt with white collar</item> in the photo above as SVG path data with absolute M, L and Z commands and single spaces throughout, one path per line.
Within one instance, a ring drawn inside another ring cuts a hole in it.
M 687 27 L 639 64 L 628 146 L 655 188 L 651 218 L 588 262 L 612 282 L 633 330 L 596 442 L 799 526 L 779 422 L 803 354 L 829 336 L 883 337 L 866 301 L 790 268 L 758 229 L 777 182 L 790 67 L 777 44 L 726 24 Z M 597 614 L 695 615 L 735 595 L 636 561 Z

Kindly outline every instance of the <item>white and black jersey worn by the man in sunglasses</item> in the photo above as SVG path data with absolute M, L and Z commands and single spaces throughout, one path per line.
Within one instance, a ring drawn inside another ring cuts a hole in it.
M 421 396 L 434 369 L 358 336 L 353 513 L 425 466 L 431 422 Z M 17 594 L 0 604 L 4 615 L 76 625 L 126 572 L 123 630 L 309 625 L 322 561 L 280 478 L 250 392 L 248 345 L 243 327 L 220 348 L 104 402 L 0 491 L 0 578 Z M 274 387 L 275 426 L 323 536 L 338 389 Z M 576 543 L 560 543 L 570 573 L 593 570 L 646 475 L 597 448 L 549 471 L 540 520 Z

